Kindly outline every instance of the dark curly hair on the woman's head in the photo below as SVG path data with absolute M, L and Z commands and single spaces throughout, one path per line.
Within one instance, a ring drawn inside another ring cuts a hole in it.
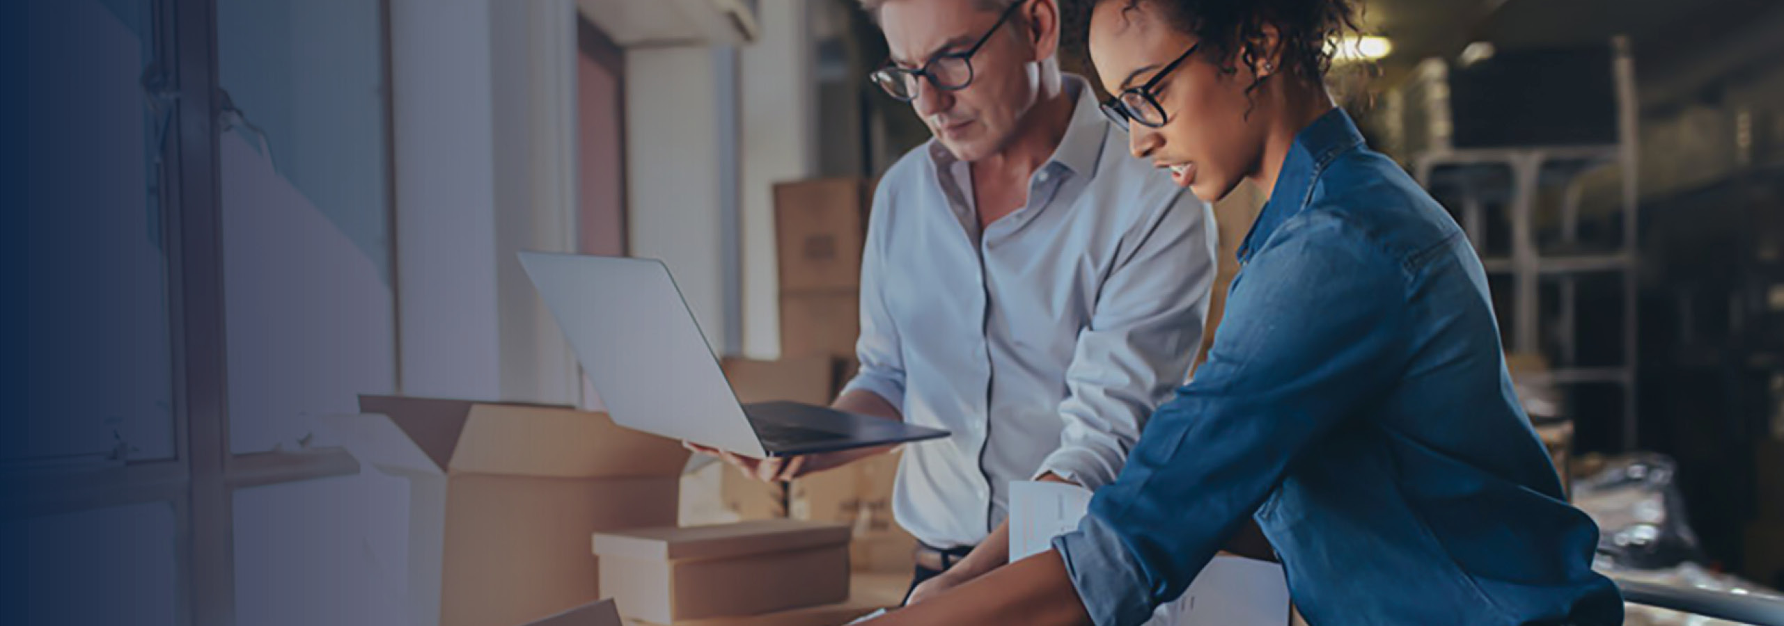
M 1233 75 L 1240 64 L 1251 66 L 1268 55 L 1263 27 L 1274 25 L 1281 70 L 1320 86 L 1331 71 L 1333 55 L 1345 34 L 1359 32 L 1361 7 L 1356 0 L 1067 0 L 1061 12 L 1065 36 L 1074 50 L 1083 50 L 1090 32 L 1090 12 L 1104 2 L 1124 2 L 1122 11 L 1151 4 L 1172 29 L 1195 36 L 1217 59 L 1222 73 Z M 1252 78 L 1245 93 L 1267 78 Z

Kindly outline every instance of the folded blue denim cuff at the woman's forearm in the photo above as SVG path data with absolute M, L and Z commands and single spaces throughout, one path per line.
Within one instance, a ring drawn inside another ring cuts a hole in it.
M 1097 626 L 1133 626 L 1152 619 L 1151 594 L 1127 544 L 1101 517 L 1085 515 L 1076 531 L 1053 539 L 1065 576 Z

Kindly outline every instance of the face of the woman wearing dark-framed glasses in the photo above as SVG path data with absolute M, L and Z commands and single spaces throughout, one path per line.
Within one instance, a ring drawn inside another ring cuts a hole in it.
M 1090 16 L 1090 62 L 1111 95 L 1152 80 L 1197 43 L 1165 21 L 1154 2 L 1108 0 Z M 1135 157 L 1167 168 L 1176 184 L 1206 202 L 1226 198 L 1258 169 L 1268 114 L 1263 89 L 1245 93 L 1252 68 L 1235 64 L 1235 73 L 1222 73 L 1218 54 L 1202 46 L 1152 86 L 1165 112 L 1163 127 L 1127 125 Z

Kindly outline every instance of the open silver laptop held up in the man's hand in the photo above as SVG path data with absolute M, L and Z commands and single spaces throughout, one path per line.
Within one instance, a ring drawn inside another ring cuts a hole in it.
M 947 437 L 792 401 L 740 405 L 662 260 L 519 257 L 621 426 L 756 458 Z

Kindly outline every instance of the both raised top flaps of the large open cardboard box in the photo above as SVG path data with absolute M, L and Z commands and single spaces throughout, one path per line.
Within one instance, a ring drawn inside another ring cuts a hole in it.
M 360 396 L 359 416 L 330 416 L 346 448 L 385 471 L 553 478 L 678 476 L 680 442 L 569 407 Z

